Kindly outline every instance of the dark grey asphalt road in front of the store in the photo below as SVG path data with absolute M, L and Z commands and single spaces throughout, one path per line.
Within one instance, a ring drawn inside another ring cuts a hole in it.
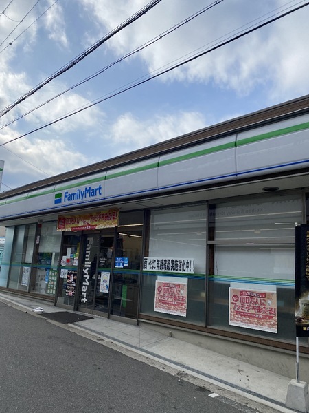
M 5 413 L 255 413 L 146 363 L 0 302 Z

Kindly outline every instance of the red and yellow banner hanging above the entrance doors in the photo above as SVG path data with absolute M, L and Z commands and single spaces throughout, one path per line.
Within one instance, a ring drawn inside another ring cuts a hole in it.
M 119 209 L 108 209 L 85 215 L 59 215 L 57 231 L 81 231 L 117 226 Z

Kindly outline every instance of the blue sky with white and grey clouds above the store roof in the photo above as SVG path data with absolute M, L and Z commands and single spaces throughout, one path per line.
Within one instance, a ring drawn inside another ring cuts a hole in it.
M 220 45 L 306 1 L 150 3 L 0 0 L 1 191 L 309 94 L 309 6 Z

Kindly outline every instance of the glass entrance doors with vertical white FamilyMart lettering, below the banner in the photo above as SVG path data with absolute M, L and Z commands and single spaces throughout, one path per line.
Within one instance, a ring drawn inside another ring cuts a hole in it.
M 137 319 L 142 224 L 82 235 L 76 309 Z

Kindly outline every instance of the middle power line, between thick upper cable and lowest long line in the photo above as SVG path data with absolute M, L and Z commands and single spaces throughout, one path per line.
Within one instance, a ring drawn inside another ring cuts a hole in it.
M 21 118 L 24 118 L 25 116 L 31 114 L 32 112 L 34 112 L 36 109 L 40 109 L 41 107 L 43 107 L 44 105 L 46 105 L 47 103 L 52 102 L 52 100 L 55 100 L 56 98 L 62 96 L 63 94 L 70 92 L 72 89 L 75 89 L 76 87 L 82 85 L 83 83 L 86 83 L 88 81 L 91 81 L 91 79 L 95 78 L 96 76 L 99 76 L 100 74 L 102 74 L 103 72 L 105 72 L 106 70 L 110 69 L 111 67 L 113 67 L 114 65 L 116 65 L 117 63 L 120 63 L 122 61 L 124 61 L 125 59 L 127 59 L 130 56 L 133 56 L 133 54 L 137 53 L 137 52 L 141 52 L 141 50 L 146 49 L 146 47 L 149 47 L 150 45 L 153 45 L 154 43 L 156 43 L 157 41 L 163 39 L 165 36 L 168 36 L 168 34 L 171 34 L 172 32 L 174 32 L 175 30 L 181 28 L 183 25 L 185 25 L 186 23 L 189 23 L 190 21 L 192 21 L 193 19 L 195 19 L 198 16 L 201 16 L 201 14 L 203 14 L 204 12 L 207 12 L 208 10 L 210 10 L 211 8 L 213 8 L 214 6 L 217 6 L 219 3 L 222 3 L 222 1 L 224 0 L 216 0 L 214 1 L 214 3 L 211 3 L 209 6 L 206 6 L 205 8 L 199 10 L 198 12 L 192 14 L 190 17 L 187 17 L 185 20 L 181 21 L 180 23 L 177 23 L 176 25 L 172 26 L 172 28 L 165 30 L 165 32 L 158 34 L 157 36 L 155 36 L 153 39 L 151 39 L 150 41 L 147 41 L 146 43 L 144 43 L 143 45 L 137 47 L 135 50 L 132 50 L 131 52 L 128 52 L 127 54 L 125 54 L 124 56 L 120 57 L 119 59 L 117 59 L 116 61 L 113 61 L 113 63 L 110 63 L 109 65 L 103 67 L 101 70 L 98 70 L 98 72 L 95 72 L 93 74 L 91 74 L 90 76 L 88 76 L 87 78 L 84 78 L 82 81 L 76 83 L 75 85 L 69 87 L 68 89 L 65 89 L 64 91 L 60 92 L 59 94 L 57 94 L 56 96 L 53 96 L 52 98 L 49 98 L 48 100 L 46 100 L 45 102 L 41 103 L 40 105 L 33 107 L 32 109 L 30 109 L 28 112 L 25 112 L 24 114 L 21 114 L 20 116 L 18 116 L 17 118 L 14 118 L 12 120 L 10 120 L 10 122 L 5 123 L 5 125 L 2 125 L 0 127 L 1 129 L 4 129 L 5 127 L 7 127 L 8 125 L 11 125 L 12 123 L 16 122 L 16 120 L 19 120 Z M 1 53 L 1 52 L 0 52 Z

